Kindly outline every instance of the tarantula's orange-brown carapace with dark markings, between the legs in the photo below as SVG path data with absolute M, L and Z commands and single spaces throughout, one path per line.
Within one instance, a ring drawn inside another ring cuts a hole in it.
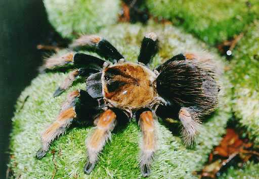
M 116 107 L 136 109 L 150 104 L 155 95 L 155 74 L 134 63 L 122 63 L 104 69 L 104 97 Z

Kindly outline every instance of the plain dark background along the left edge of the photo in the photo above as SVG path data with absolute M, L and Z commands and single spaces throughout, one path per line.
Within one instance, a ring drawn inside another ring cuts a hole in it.
M 0 1 L 0 178 L 6 177 L 14 105 L 45 53 L 36 45 L 53 34 L 42 1 Z

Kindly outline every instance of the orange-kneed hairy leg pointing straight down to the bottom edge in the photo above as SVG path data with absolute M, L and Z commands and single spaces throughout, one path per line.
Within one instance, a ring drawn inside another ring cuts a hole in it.
M 150 163 L 156 150 L 154 117 L 151 111 L 140 114 L 139 125 L 142 131 L 140 167 L 144 177 L 150 174 Z

